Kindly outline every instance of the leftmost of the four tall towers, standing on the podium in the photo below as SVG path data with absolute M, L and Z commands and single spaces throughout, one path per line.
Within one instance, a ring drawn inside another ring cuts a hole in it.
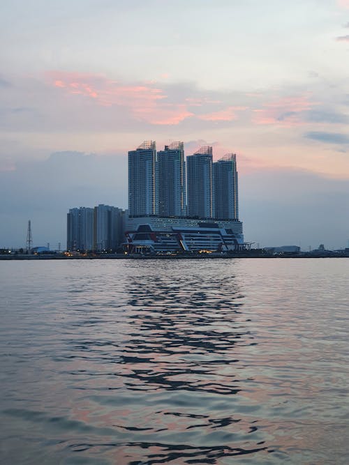
M 144 141 L 128 152 L 128 211 L 130 216 L 158 215 L 156 143 Z

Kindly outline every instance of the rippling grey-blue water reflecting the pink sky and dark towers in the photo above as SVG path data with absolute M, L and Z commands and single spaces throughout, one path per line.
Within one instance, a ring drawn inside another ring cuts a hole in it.
M 0 262 L 1 464 L 346 464 L 348 276 Z

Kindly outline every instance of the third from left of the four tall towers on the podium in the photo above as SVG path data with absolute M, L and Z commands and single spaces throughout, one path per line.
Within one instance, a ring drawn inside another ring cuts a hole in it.
M 213 218 L 212 147 L 201 147 L 193 155 L 188 156 L 186 167 L 188 172 L 188 216 Z

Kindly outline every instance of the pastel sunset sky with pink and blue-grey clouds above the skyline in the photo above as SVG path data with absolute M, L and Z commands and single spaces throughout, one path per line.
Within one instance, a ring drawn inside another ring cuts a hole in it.
M 0 247 L 127 208 L 127 152 L 237 153 L 246 241 L 348 247 L 349 0 L 2 0 Z

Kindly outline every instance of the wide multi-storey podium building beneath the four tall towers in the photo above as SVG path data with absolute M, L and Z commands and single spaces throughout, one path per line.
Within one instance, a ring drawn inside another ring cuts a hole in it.
M 131 253 L 242 250 L 242 222 L 195 218 L 129 218 L 126 249 Z

